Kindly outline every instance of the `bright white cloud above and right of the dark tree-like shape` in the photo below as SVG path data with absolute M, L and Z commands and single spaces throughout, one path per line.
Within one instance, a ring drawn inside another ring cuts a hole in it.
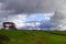
M 16 28 L 24 26 L 26 14 L 9 15 L 7 21 L 14 22 Z

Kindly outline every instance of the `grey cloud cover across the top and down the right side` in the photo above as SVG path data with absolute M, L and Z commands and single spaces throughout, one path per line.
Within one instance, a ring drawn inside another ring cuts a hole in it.
M 28 13 L 29 15 L 30 13 L 50 12 L 55 12 L 52 21 L 57 26 L 65 23 L 66 0 L 0 0 L 0 22 L 3 22 L 9 15 L 13 16 L 21 13 Z

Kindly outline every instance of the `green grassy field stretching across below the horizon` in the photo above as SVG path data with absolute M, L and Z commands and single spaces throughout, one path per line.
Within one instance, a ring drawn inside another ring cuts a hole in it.
M 9 37 L 6 44 L 66 44 L 66 31 L 4 31 L 0 34 Z

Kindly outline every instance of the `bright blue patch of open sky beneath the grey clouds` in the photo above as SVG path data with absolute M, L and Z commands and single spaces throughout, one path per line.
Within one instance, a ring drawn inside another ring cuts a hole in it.
M 25 21 L 42 21 L 42 20 L 51 20 L 52 13 L 33 13 Z

